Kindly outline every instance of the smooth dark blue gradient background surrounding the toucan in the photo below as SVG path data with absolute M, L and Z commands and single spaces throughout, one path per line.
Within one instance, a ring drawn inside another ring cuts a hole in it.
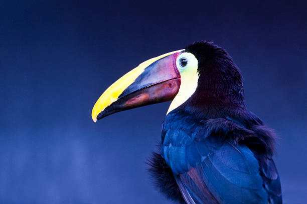
M 247 107 L 279 133 L 284 203 L 305 203 L 304 2 L 3 1 L 0 203 L 170 203 L 144 163 L 170 103 L 97 123 L 91 109 L 140 62 L 202 39 L 227 49 Z

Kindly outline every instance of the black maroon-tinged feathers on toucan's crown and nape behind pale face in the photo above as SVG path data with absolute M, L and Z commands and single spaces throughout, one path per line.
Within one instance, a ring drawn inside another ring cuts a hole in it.
M 198 60 L 198 87 L 187 103 L 193 106 L 244 105 L 242 75 L 227 51 L 211 41 L 198 41 L 186 47 Z

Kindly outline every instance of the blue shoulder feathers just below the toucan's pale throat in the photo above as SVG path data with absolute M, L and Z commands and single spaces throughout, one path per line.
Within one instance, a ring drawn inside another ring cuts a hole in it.
M 221 141 L 206 134 L 206 119 L 184 112 L 167 115 L 162 130 L 161 155 L 174 174 L 187 172 L 195 167 Z

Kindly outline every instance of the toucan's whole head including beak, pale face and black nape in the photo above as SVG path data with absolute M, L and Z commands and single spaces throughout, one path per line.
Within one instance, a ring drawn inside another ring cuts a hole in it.
M 232 58 L 212 42 L 200 41 L 148 59 L 123 75 L 96 101 L 92 119 L 169 100 L 168 113 L 185 105 L 244 107 L 243 95 Z

